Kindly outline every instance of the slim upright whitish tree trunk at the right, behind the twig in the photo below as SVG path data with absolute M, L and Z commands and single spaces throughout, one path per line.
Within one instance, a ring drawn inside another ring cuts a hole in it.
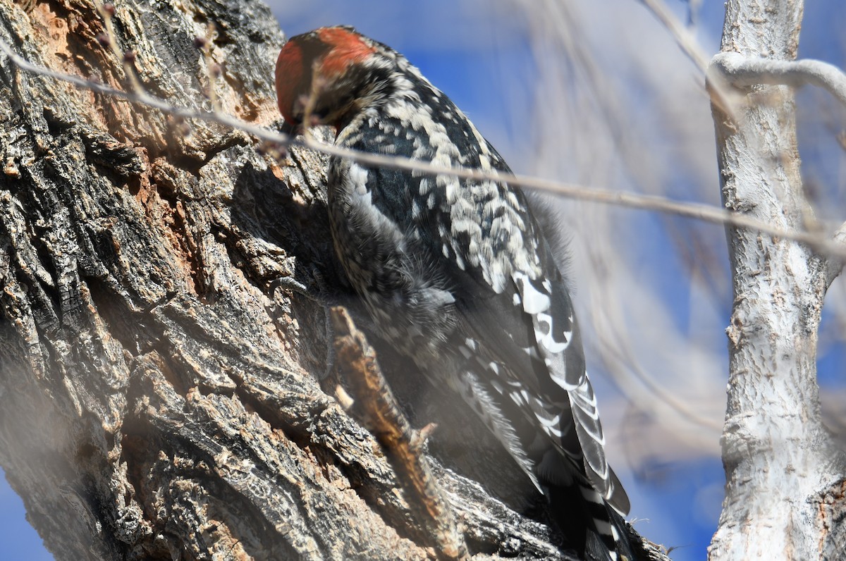
M 802 3 L 727 3 L 723 52 L 792 60 Z M 812 217 L 799 174 L 794 92 L 740 92 L 733 122 L 715 104 L 726 206 L 786 229 Z M 709 550 L 722 559 L 838 559 L 846 551 L 842 454 L 820 416 L 817 329 L 827 264 L 807 247 L 728 230 L 734 305 L 728 327 L 726 499 Z

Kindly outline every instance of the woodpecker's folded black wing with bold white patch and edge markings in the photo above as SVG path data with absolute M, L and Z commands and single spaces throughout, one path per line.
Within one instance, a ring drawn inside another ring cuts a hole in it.
M 626 513 L 629 500 L 607 465 L 572 301 L 546 243 L 541 240 L 538 249 L 540 274 L 533 278 L 530 272 L 514 270 L 499 293 L 485 289 L 483 272 L 465 268 L 457 278 L 465 283 L 474 279 L 475 298 L 457 298 L 456 306 L 466 330 L 480 342 L 480 352 L 502 365 L 486 369 L 486 382 L 495 382 L 492 386 L 503 388 L 524 415 L 532 415 L 536 426 L 589 478 L 602 498 Z M 474 293 L 463 289 L 453 294 Z M 540 475 L 555 481 L 561 475 L 552 470 L 560 467 L 541 465 Z

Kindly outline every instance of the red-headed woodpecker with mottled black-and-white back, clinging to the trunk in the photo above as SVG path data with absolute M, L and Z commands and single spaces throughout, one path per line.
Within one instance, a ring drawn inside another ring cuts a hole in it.
M 403 55 L 348 26 L 292 37 L 276 89 L 288 124 L 332 125 L 337 146 L 492 177 L 332 157 L 338 260 L 382 337 L 481 417 L 569 544 L 631 560 L 573 303 L 524 193 L 496 179 L 503 158 Z

